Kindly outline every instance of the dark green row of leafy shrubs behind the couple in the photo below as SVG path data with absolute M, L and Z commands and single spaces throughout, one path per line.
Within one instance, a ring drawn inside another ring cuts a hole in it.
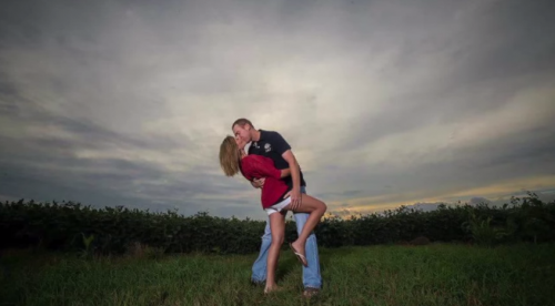
M 93 208 L 79 203 L 0 203 L 0 248 L 43 247 L 56 251 L 94 249 L 121 254 L 140 243 L 168 253 L 254 253 L 265 223 L 198 213 L 152 213 L 122 206 Z M 555 241 L 555 202 L 528 193 L 502 207 L 440 205 L 422 212 L 405 206 L 384 213 L 324 218 L 315 230 L 320 246 L 374 245 L 426 236 L 432 242 L 482 244 Z M 286 224 L 286 241 L 296 226 Z

